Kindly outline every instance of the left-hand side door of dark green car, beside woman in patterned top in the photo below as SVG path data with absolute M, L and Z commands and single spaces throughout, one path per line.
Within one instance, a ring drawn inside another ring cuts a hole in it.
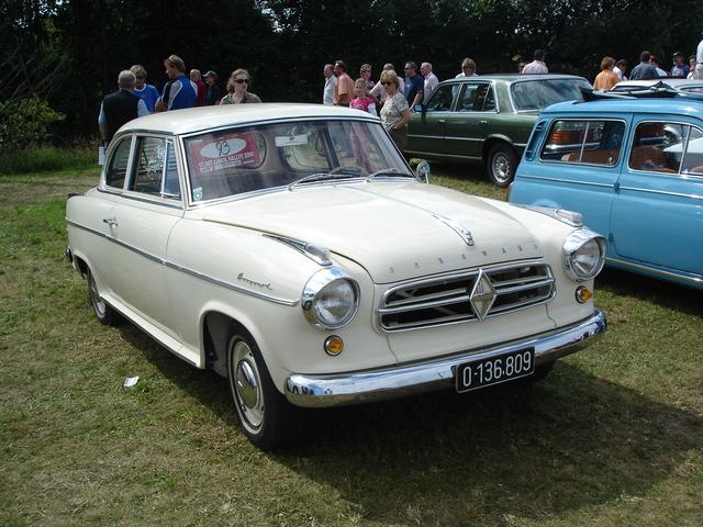
M 408 130 L 406 152 L 432 157 L 446 154 L 446 125 L 451 115 L 454 100 L 459 92 L 459 83 L 448 82 L 437 86 L 423 106 L 422 112 L 413 112 Z

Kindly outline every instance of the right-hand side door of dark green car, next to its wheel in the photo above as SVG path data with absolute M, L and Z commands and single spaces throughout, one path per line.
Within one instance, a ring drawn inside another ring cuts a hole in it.
M 489 122 L 495 115 L 493 87 L 488 81 L 464 82 L 455 111 L 447 116 L 446 154 L 481 159 Z

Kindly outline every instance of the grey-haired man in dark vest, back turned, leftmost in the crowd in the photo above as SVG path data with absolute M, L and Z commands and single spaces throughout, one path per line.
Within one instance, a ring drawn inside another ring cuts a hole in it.
M 125 69 L 118 76 L 118 87 L 114 93 L 105 96 L 100 104 L 100 115 L 98 115 L 98 127 L 102 136 L 103 145 L 112 141 L 120 126 L 133 119 L 148 115 L 148 110 L 144 101 L 133 93 L 136 77 L 132 71 Z

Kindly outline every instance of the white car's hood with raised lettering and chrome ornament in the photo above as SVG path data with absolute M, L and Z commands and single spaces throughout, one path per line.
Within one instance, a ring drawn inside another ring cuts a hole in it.
M 202 218 L 326 247 L 376 283 L 543 256 L 490 200 L 417 182 L 298 187 L 208 206 Z

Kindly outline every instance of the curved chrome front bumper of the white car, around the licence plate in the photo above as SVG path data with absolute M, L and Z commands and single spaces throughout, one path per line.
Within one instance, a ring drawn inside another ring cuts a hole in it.
M 543 333 L 502 346 L 471 349 L 448 358 L 333 375 L 292 374 L 286 380 L 286 399 L 297 406 L 324 407 L 394 399 L 413 393 L 454 386 L 454 372 L 460 363 L 535 348 L 540 365 L 589 346 L 607 326 L 605 315 L 595 311 L 589 318 L 568 327 Z

